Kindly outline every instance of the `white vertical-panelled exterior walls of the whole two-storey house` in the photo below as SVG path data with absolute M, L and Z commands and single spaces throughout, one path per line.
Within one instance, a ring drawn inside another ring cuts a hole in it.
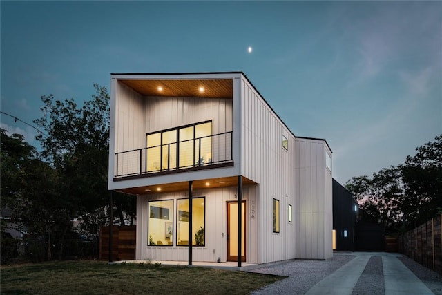
M 332 153 L 325 141 L 295 138 L 243 75 L 186 76 L 231 78 L 233 99 L 142 97 L 117 82 L 140 76 L 112 79 L 109 189 L 243 175 L 257 183 L 243 188 L 248 263 L 332 257 L 332 173 L 325 167 L 325 152 Z M 206 120 L 213 120 L 213 134 L 233 131 L 234 166 L 113 182 L 115 152 L 144 148 L 146 133 Z M 289 142 L 288 151 L 282 147 L 282 135 Z M 237 191 L 227 187 L 193 192 L 195 197 L 206 197 L 206 246 L 193 247 L 193 260 L 227 258 L 226 202 L 237 200 Z M 137 196 L 137 259 L 187 260 L 187 247 L 147 246 L 148 200 L 186 196 L 187 192 Z M 273 198 L 280 202 L 279 233 L 273 233 Z M 293 222 L 288 221 L 289 204 Z M 176 209 L 173 216 L 176 220 Z

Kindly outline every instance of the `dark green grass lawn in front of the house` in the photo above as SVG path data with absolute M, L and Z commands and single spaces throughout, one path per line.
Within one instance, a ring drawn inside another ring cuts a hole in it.
M 249 294 L 281 276 L 91 260 L 1 267 L 1 294 Z

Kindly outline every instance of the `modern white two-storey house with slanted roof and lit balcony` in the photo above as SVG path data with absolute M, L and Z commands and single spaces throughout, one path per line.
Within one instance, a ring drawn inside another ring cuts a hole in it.
M 137 195 L 137 260 L 332 257 L 332 151 L 244 73 L 111 79 L 108 189 Z

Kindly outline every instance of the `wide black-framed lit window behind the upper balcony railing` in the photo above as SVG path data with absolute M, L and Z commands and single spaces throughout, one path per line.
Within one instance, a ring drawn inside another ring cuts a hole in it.
M 146 171 L 169 171 L 212 161 L 212 122 L 146 135 Z

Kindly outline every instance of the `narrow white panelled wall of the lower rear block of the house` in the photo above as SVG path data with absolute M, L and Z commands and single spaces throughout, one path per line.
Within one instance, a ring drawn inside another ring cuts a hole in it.
M 296 258 L 332 258 L 332 173 L 323 140 L 296 138 Z

